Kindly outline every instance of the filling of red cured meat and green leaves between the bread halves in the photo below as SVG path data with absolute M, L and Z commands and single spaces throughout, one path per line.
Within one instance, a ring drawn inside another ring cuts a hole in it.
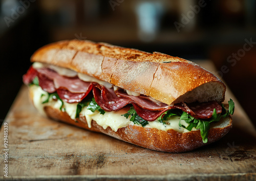
M 71 118 L 74 120 L 88 115 L 87 110 L 99 112 L 101 115 L 109 115 L 113 111 L 118 112 L 122 118 L 130 119 L 133 124 L 143 127 L 151 125 L 153 122 L 159 122 L 166 127 L 178 118 L 177 125 L 180 129 L 187 131 L 200 129 L 204 143 L 207 142 L 210 122 L 218 122 L 221 118 L 233 114 L 234 109 L 232 100 L 229 101 L 229 110 L 217 101 L 189 104 L 182 102 L 167 105 L 94 77 L 39 62 L 35 62 L 30 67 L 27 74 L 24 75 L 23 81 L 30 86 L 39 86 L 45 92 L 40 96 L 44 97 L 40 104 L 46 105 L 54 99 L 59 102 L 59 109 L 66 112 L 68 109 L 65 110 L 65 108 L 69 107 L 67 105 L 73 106 L 75 116 Z M 87 114 L 84 110 L 87 111 Z M 120 114 L 120 112 L 122 113 Z M 88 116 L 86 119 L 92 120 Z M 97 118 L 93 118 L 93 120 L 95 119 Z M 116 128 L 113 130 L 116 131 Z

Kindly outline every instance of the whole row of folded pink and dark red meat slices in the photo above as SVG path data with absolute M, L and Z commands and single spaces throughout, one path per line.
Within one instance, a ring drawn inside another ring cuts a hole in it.
M 178 108 L 196 119 L 208 119 L 214 109 L 221 113 L 222 106 L 217 101 L 204 103 L 178 103 L 174 106 L 162 102 L 154 102 L 146 96 L 130 96 L 123 90 L 114 91 L 95 82 L 85 82 L 76 77 L 65 77 L 57 72 L 47 69 L 33 69 L 31 66 L 27 74 L 23 76 L 24 83 L 28 84 L 38 77 L 39 86 L 48 93 L 57 92 L 59 97 L 68 103 L 80 102 L 92 91 L 96 103 L 105 111 L 119 110 L 128 104 L 132 104 L 137 114 L 144 120 L 154 121 L 165 111 Z

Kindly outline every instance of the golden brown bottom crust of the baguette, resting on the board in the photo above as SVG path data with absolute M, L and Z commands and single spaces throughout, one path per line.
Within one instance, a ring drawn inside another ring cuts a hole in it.
M 59 109 L 50 106 L 46 106 L 44 110 L 50 118 L 91 131 L 102 132 L 119 140 L 152 150 L 177 153 L 190 151 L 206 145 L 202 142 L 200 130 L 179 133 L 173 129 L 162 131 L 156 128 L 128 125 L 127 127 L 119 128 L 115 132 L 110 127 L 103 129 L 95 121 L 92 121 L 92 127 L 89 128 L 85 117 L 79 118 L 75 122 L 66 112 L 61 112 Z M 231 129 L 232 118 L 229 116 L 226 121 L 229 123 L 225 127 L 220 126 L 209 130 L 207 144 L 221 139 Z

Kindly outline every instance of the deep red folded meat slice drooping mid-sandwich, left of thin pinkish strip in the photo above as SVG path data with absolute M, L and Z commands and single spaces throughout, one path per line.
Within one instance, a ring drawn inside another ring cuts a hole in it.
M 101 101 L 106 108 L 111 110 L 119 110 L 133 102 L 129 98 L 118 97 L 113 88 L 106 88 L 104 86 L 101 86 Z

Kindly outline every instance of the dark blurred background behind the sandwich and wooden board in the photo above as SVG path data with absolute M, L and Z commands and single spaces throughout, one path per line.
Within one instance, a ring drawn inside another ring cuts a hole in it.
M 0 119 L 33 52 L 77 38 L 211 60 L 254 121 L 255 10 L 255 0 L 0 0 Z

